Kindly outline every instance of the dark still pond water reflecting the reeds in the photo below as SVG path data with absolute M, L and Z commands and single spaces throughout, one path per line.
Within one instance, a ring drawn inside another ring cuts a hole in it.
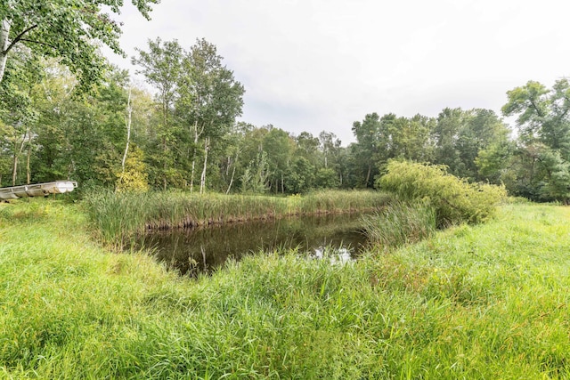
M 159 262 L 181 274 L 219 268 L 227 259 L 297 248 L 307 256 L 322 257 L 334 250 L 337 260 L 352 260 L 366 245 L 361 214 L 298 216 L 279 220 L 228 223 L 195 230 L 151 232 L 140 245 L 151 248 Z

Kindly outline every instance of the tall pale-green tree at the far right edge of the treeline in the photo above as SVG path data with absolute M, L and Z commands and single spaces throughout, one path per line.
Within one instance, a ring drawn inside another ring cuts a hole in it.
M 519 143 L 512 162 L 515 181 L 509 190 L 535 200 L 570 196 L 570 85 L 566 78 L 552 89 L 529 81 L 507 93 L 505 116 L 517 116 Z

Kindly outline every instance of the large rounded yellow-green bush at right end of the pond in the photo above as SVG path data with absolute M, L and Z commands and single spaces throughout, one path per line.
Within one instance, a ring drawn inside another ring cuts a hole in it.
M 446 166 L 408 161 L 390 161 L 387 174 L 377 180 L 376 186 L 403 200 L 428 201 L 436 209 L 440 227 L 483 222 L 493 215 L 497 204 L 507 195 L 502 186 L 468 183 L 448 174 Z

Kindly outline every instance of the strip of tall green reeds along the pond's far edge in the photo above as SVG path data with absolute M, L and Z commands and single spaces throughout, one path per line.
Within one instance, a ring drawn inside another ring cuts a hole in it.
M 391 198 L 378 191 L 327 190 L 304 196 L 269 197 L 183 192 L 115 193 L 85 197 L 90 221 L 107 243 L 121 244 L 145 229 L 279 218 L 294 214 L 376 209 Z

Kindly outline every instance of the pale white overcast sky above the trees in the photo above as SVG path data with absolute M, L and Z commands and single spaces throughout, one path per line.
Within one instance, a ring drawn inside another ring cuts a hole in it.
M 565 0 L 162 0 L 150 21 L 125 3 L 112 63 L 134 74 L 149 39 L 205 38 L 245 87 L 241 121 L 345 146 L 368 113 L 501 115 L 507 91 L 570 76 Z

